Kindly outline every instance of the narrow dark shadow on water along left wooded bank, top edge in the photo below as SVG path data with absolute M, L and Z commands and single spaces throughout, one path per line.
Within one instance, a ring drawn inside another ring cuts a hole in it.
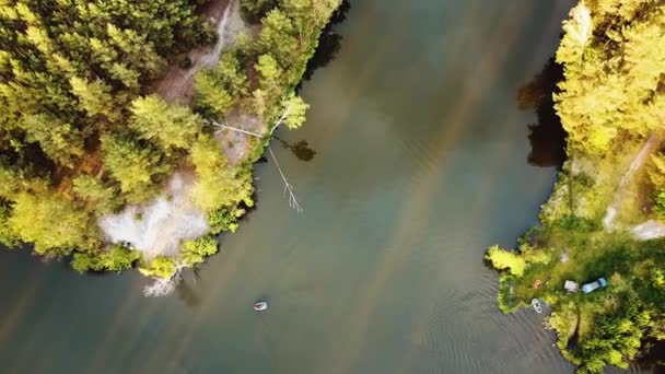
M 342 36 L 332 31 L 332 28 L 335 25 L 342 23 L 347 19 L 347 13 L 350 9 L 351 3 L 349 0 L 343 0 L 339 9 L 330 19 L 330 22 L 322 31 L 320 36 L 318 37 L 318 47 L 316 48 L 314 56 L 312 56 L 307 62 L 307 68 L 305 69 L 303 79 L 295 87 L 295 91 L 300 91 L 304 81 L 311 80 L 317 69 L 330 63 L 330 61 L 332 61 L 339 54 L 341 50 Z

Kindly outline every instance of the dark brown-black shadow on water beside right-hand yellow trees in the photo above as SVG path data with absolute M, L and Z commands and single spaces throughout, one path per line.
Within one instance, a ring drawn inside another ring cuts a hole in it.
M 527 162 L 541 167 L 561 168 L 565 161 L 565 131 L 555 112 L 552 94 L 557 92 L 557 83 L 563 80 L 563 67 L 553 58 L 542 68 L 542 71 L 523 85 L 517 93 L 517 104 L 522 110 L 535 110 L 538 117 L 536 124 L 528 125 L 528 140 L 532 151 Z

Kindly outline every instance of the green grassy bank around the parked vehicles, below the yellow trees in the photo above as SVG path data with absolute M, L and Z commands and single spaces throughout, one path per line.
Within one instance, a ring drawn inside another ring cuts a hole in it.
M 629 230 L 632 220 L 654 219 L 646 213 L 650 202 L 631 194 L 621 204 L 633 207 L 630 213 L 623 208 L 611 231 L 603 224 L 614 196 L 648 188 L 643 168 L 631 182 L 621 183 L 635 150 L 644 144 L 645 139 L 627 142 L 611 160 L 567 162 L 542 207 L 541 224 L 520 239 L 518 255 L 498 248 L 488 254 L 495 267 L 508 270 L 500 280 L 501 309 L 513 313 L 528 307 L 532 299 L 544 300 L 552 308 L 546 326 L 557 331 L 557 346 L 583 372 L 604 364 L 627 367 L 640 352 L 649 351 L 640 341 L 663 337 L 657 300 L 663 293 L 665 241 L 642 241 Z M 591 294 L 571 293 L 563 287 L 567 281 L 581 285 L 600 277 L 609 285 Z M 614 330 L 619 322 L 622 327 Z M 604 348 L 597 351 L 595 344 L 600 342 Z

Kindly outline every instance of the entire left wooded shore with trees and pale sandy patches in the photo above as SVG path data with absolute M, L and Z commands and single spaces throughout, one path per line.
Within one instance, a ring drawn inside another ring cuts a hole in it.
M 0 242 L 172 292 L 253 207 L 275 128 L 305 121 L 294 91 L 340 4 L 4 2 Z

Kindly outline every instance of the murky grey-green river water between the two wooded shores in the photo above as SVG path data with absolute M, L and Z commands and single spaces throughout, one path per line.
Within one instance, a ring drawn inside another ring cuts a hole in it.
M 2 373 L 571 373 L 541 315 L 503 316 L 482 260 L 536 222 L 517 89 L 572 0 L 355 0 L 302 94 L 304 162 L 273 148 L 258 208 L 177 295 L 0 254 Z M 270 302 L 252 311 L 258 297 Z

